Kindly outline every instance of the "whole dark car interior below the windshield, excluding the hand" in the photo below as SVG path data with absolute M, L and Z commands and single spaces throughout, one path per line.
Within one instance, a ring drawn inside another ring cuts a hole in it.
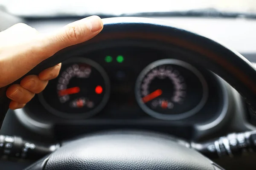
M 254 170 L 256 3 L 250 3 L 255 12 L 77 15 L 19 15 L 0 3 L 2 31 L 26 23 L 48 33 L 92 14 L 104 23 L 96 37 L 26 74 L 62 62 L 59 76 L 24 108 L 8 110 L 0 94 L 0 169 Z

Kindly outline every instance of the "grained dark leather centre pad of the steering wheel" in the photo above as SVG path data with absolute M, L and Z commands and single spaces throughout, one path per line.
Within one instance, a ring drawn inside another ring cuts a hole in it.
M 86 136 L 49 156 L 45 170 L 214 170 L 195 150 L 156 133 Z

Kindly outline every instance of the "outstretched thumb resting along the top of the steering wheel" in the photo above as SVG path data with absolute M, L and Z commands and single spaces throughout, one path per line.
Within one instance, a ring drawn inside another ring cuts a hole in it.
M 52 35 L 43 37 L 40 48 L 43 51 L 49 52 L 47 56 L 43 56 L 43 59 L 52 56 L 63 48 L 90 40 L 99 34 L 102 28 L 101 18 L 90 16 L 70 23 Z

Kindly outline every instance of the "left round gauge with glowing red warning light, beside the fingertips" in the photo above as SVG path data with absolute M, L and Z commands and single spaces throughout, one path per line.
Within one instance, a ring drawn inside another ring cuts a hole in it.
M 67 60 L 56 80 L 55 88 L 46 88 L 39 94 L 42 104 L 53 114 L 67 118 L 89 117 L 98 113 L 108 101 L 108 76 L 90 59 Z

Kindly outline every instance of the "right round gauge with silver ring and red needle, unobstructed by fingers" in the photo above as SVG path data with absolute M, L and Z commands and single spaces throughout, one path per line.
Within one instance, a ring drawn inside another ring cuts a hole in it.
M 158 119 L 184 119 L 197 113 L 208 96 L 202 74 L 186 62 L 162 59 L 139 75 L 135 95 L 140 107 Z

